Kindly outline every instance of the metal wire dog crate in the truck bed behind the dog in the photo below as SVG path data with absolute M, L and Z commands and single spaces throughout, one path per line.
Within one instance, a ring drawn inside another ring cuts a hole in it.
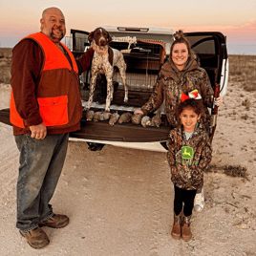
M 112 104 L 136 106 L 143 104 L 153 91 L 160 67 L 164 62 L 165 43 L 157 40 L 136 39 L 129 43 L 115 38 L 110 46 L 123 53 L 126 63 L 126 83 L 129 87 L 129 100 L 123 102 L 124 86 L 118 70 L 113 77 L 114 98 Z M 88 100 L 90 90 L 90 70 L 80 76 L 82 81 L 81 98 Z M 103 103 L 106 99 L 107 81 L 105 75 L 97 75 L 94 102 Z M 141 101 L 142 99 L 142 101 Z M 139 101 L 139 102 L 137 102 Z

